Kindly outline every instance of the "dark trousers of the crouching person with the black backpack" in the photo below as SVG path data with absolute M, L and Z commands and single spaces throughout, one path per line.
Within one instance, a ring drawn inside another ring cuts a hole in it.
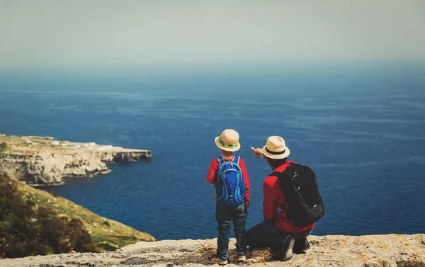
M 288 235 L 293 236 L 295 240 L 305 239 L 313 229 L 308 229 L 303 232 L 286 232 L 275 225 L 274 220 L 263 221 L 258 225 L 251 227 L 246 231 L 246 244 L 249 247 L 271 247 L 279 249 L 282 245 L 282 240 Z

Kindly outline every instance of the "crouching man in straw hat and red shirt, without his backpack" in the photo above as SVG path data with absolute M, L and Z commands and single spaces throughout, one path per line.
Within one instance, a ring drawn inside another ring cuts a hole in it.
M 256 158 L 264 157 L 272 171 L 283 172 L 289 164 L 290 150 L 282 137 L 268 137 L 266 145 L 254 149 Z M 277 176 L 269 175 L 263 182 L 263 217 L 264 221 L 246 232 L 247 244 L 250 247 L 266 247 L 279 249 L 280 260 L 292 259 L 293 253 L 301 254 L 310 248 L 306 237 L 312 232 L 314 223 L 305 227 L 297 227 L 288 218 L 285 210 L 286 201 Z

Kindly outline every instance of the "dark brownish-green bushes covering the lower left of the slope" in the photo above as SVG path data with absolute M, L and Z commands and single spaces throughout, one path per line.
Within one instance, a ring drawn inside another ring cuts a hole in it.
M 18 182 L 0 175 L 0 257 L 99 252 L 84 223 L 50 207 L 39 207 L 18 190 Z

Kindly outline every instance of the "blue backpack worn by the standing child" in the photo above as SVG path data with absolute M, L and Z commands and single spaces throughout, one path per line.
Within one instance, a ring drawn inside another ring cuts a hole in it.
M 244 202 L 245 181 L 239 159 L 234 157 L 233 161 L 225 161 L 222 157 L 217 158 L 220 166 L 217 169 L 215 195 L 222 207 L 236 208 Z

